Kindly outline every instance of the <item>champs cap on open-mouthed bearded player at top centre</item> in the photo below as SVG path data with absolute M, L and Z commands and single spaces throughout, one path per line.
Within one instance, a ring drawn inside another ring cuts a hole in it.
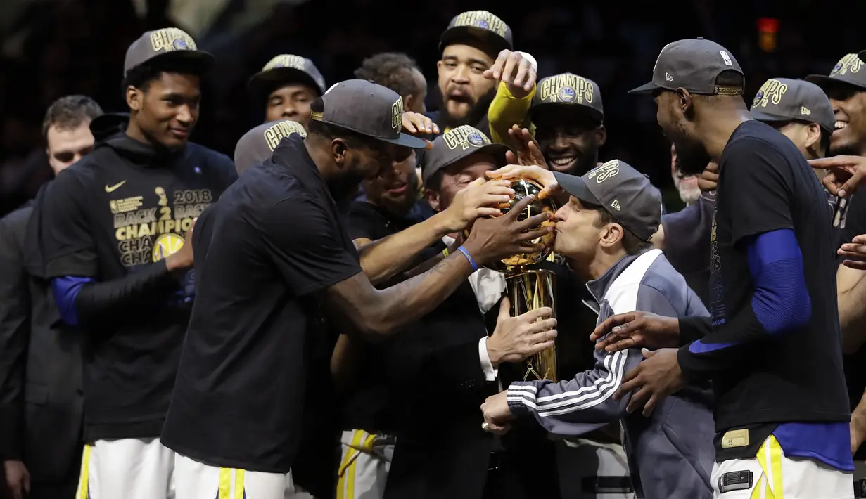
M 439 39 L 439 49 L 456 44 L 477 46 L 494 58 L 514 48 L 511 28 L 487 10 L 469 10 L 451 19 Z

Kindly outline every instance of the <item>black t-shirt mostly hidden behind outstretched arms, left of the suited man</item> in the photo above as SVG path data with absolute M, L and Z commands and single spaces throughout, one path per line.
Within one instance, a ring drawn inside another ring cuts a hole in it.
M 419 212 L 417 209 L 412 211 Z M 411 214 L 407 216 L 392 214 L 387 209 L 369 202 L 352 202 L 346 214 L 346 230 L 352 240 L 380 240 L 420 221 L 422 221 L 420 217 L 413 217 Z M 410 267 L 435 254 L 432 248 L 425 250 Z M 399 280 L 397 276 L 377 287 L 383 289 L 397 284 Z M 394 348 L 393 340 L 378 344 L 365 342 L 359 345 L 359 349 L 362 350 L 359 358 L 363 361 L 359 362 L 358 372 L 354 374 L 352 381 L 352 391 L 346 394 L 343 403 L 344 429 L 362 429 L 366 432 L 390 434 L 400 429 L 405 419 L 402 412 L 404 408 L 396 398 L 393 384 L 389 382 L 390 375 L 386 365 L 388 355 L 392 355 L 391 351 Z

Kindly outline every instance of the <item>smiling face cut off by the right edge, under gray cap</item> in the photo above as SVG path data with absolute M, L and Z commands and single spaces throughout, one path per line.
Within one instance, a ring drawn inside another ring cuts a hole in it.
M 866 91 L 838 83 L 824 88 L 836 115 L 836 130 L 830 136 L 830 154 L 861 156 L 866 153 Z

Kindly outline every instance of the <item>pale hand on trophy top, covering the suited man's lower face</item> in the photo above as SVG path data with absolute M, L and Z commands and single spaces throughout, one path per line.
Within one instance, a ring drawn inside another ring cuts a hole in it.
M 475 219 L 482 216 L 500 216 L 501 205 L 507 207 L 514 197 L 514 189 L 507 180 L 492 180 L 485 182 L 483 178 L 475 179 L 454 196 L 454 200 L 445 210 L 448 215 L 445 227 L 449 232 L 459 232 L 472 225 Z

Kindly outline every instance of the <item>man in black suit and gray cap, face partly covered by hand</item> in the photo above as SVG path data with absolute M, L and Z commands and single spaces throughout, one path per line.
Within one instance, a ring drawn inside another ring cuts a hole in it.
M 503 165 L 506 150 L 469 125 L 436 138 L 423 170 L 431 208 L 448 208 L 460 189 Z M 443 237 L 436 251 L 459 237 Z M 484 314 L 495 313 L 502 291 L 500 272 L 478 269 L 391 345 L 387 362 L 405 411 L 385 499 L 559 497 L 553 444 L 544 432 L 531 432 L 527 425 L 530 432 L 518 428 L 500 439 L 481 429 L 478 406 L 499 390 L 500 372 L 553 344 L 555 334 L 545 330 L 555 323 L 547 318 L 536 323 L 540 328 L 533 336 L 540 337 L 527 342 L 531 348 L 514 349 L 516 335 L 509 330 L 519 317 L 508 317 L 505 303 L 488 337 Z

